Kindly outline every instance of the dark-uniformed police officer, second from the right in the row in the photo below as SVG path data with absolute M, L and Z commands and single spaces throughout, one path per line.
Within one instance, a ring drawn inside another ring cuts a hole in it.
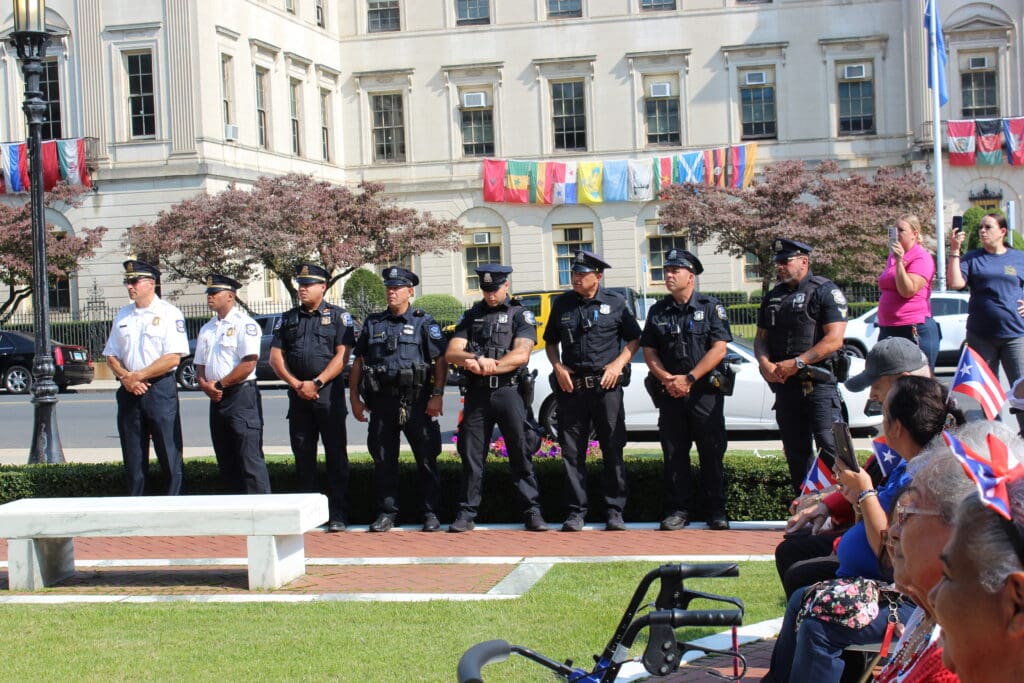
M 706 519 L 713 529 L 729 528 L 725 514 L 725 396 L 711 382 L 732 340 L 725 306 L 694 288 L 703 272 L 696 256 L 682 249 L 665 254 L 665 287 L 670 296 L 647 315 L 643 357 L 650 369 L 645 382 L 658 408 L 657 429 L 665 455 L 668 515 L 662 529 L 686 526 L 694 503 L 690 445 L 700 456 L 700 482 L 707 498 Z

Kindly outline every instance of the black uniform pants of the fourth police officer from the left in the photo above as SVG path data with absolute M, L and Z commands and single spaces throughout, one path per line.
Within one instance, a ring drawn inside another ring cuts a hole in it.
M 402 433 L 416 458 L 423 512 L 436 514 L 438 511 L 441 480 L 437 456 L 441 452 L 441 429 L 437 420 L 427 415 L 427 400 L 424 395 L 413 402 L 406 425 L 399 427 L 401 402 L 397 396 L 378 394 L 368 399 L 370 428 L 367 445 L 374 459 L 374 489 L 380 513 L 398 514 L 398 445 Z

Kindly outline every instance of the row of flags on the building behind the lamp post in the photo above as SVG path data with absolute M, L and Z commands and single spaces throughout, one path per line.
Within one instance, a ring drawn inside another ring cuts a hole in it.
M 72 185 L 92 186 L 85 167 L 85 138 L 46 140 L 41 146 L 43 162 L 43 189 L 49 191 L 60 180 Z M 29 179 L 29 151 L 25 142 L 0 143 L 0 194 L 27 193 Z

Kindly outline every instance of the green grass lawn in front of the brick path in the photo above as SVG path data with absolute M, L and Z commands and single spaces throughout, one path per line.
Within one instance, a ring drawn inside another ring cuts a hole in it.
M 493 638 L 589 667 L 654 566 L 561 564 L 524 597 L 493 602 L 6 605 L 2 678 L 451 681 L 466 648 Z M 741 597 L 746 624 L 782 613 L 770 562 L 687 586 Z M 689 640 L 710 631 L 678 633 Z M 552 680 L 520 657 L 484 673 L 488 683 Z

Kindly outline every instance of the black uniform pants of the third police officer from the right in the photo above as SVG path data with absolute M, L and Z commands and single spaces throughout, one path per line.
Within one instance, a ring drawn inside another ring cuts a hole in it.
M 565 461 L 565 498 L 569 514 L 587 515 L 587 446 L 591 430 L 597 433 L 604 460 L 604 505 L 607 512 L 622 513 L 626 507 L 626 417 L 623 388 L 605 391 L 562 390 L 558 395 L 558 442 Z

